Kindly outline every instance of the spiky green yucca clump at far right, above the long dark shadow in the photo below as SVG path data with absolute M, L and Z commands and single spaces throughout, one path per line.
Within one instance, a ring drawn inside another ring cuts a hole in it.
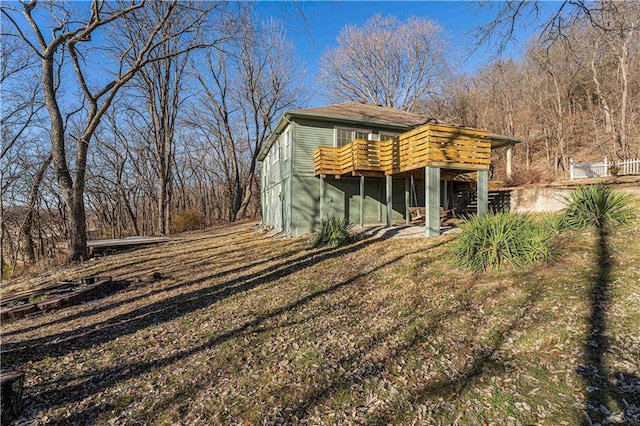
M 564 197 L 563 225 L 567 229 L 625 224 L 633 218 L 630 198 L 604 185 L 580 186 Z

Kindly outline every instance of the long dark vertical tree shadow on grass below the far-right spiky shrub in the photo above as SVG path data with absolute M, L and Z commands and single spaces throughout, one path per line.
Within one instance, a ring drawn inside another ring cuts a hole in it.
M 614 383 L 606 362 L 609 349 L 607 309 L 610 305 L 612 254 L 608 226 L 599 226 L 597 232 L 596 274 L 590 288 L 591 314 L 584 345 L 586 364 L 577 368 L 578 375 L 586 385 L 583 425 L 612 421 L 640 424 L 640 378 L 634 374 L 617 372 Z M 618 406 L 622 419 L 610 418 L 613 404 Z

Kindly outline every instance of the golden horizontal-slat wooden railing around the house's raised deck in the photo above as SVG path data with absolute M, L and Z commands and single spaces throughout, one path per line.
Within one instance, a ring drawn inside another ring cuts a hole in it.
M 427 124 L 386 141 L 354 140 L 340 148 L 315 151 L 315 174 L 395 174 L 425 166 L 486 170 L 491 163 L 490 133 Z

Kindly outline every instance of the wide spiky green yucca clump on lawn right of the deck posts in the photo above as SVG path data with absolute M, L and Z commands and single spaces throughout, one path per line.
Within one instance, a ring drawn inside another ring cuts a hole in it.
M 505 265 L 522 269 L 537 261 L 548 261 L 552 255 L 555 232 L 526 214 L 473 216 L 461 228 L 451 254 L 456 266 L 474 272 L 500 270 Z

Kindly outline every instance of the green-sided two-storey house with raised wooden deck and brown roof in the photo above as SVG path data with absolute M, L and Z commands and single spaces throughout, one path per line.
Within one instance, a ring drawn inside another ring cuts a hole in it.
M 331 215 L 391 226 L 422 207 L 438 235 L 460 188 L 476 188 L 486 211 L 491 150 L 518 142 L 360 102 L 289 111 L 258 156 L 262 222 L 299 236 Z

